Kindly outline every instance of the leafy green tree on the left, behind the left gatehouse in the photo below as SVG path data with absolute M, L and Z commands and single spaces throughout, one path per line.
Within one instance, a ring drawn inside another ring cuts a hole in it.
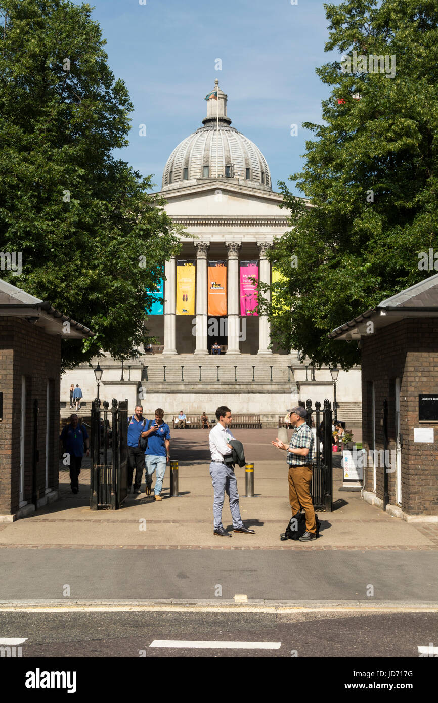
M 133 106 L 88 4 L 0 0 L 0 250 L 21 252 L 13 285 L 96 335 L 63 341 L 72 367 L 146 340 L 144 307 L 178 236 L 163 200 L 112 150 Z

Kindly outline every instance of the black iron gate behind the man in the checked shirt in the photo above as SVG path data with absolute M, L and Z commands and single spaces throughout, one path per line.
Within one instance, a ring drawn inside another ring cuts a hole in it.
M 304 406 L 304 403 L 299 402 Z M 307 425 L 311 428 L 312 413 L 314 413 L 316 427 L 316 452 L 313 464 L 313 477 L 311 481 L 311 495 L 315 510 L 333 510 L 333 412 L 330 401 L 325 400 L 323 409 L 321 403 L 316 401 L 315 410 L 311 407 L 311 400 L 307 399 Z M 321 446 L 320 446 L 321 443 Z

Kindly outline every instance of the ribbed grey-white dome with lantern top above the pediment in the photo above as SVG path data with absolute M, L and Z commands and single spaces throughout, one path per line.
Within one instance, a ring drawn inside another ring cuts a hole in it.
M 207 117 L 193 134 L 174 148 L 162 176 L 162 191 L 192 185 L 193 181 L 236 179 L 251 188 L 271 191 L 266 159 L 255 143 L 231 127 L 226 94 L 219 89 L 207 100 Z M 207 98 L 206 98 L 207 99 Z

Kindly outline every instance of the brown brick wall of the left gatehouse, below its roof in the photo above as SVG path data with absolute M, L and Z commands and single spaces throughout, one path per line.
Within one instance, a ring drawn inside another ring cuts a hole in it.
M 26 378 L 24 500 L 32 501 L 34 451 L 34 400 L 37 414 L 37 496 L 46 492 L 46 397 L 49 399 L 49 487 L 58 487 L 58 418 L 60 385 L 60 337 L 20 318 L 0 318 L 0 390 L 4 394 L 0 423 L 0 514 L 19 507 L 20 411 L 22 376 Z

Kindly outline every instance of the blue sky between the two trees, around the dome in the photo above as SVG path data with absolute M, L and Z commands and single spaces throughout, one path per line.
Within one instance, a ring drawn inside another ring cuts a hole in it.
M 135 108 L 129 147 L 115 155 L 145 176 L 155 174 L 160 186 L 167 157 L 201 126 L 204 97 L 219 78 L 232 126 L 262 150 L 277 190 L 278 180 L 302 169 L 304 142 L 311 137 L 302 122 L 321 122 L 328 86 L 315 68 L 339 57 L 323 51 L 323 3 L 146 2 L 94 0 L 109 65 L 127 84 Z M 217 58 L 221 70 L 215 70 Z M 139 136 L 139 124 L 146 124 L 146 136 Z M 291 124 L 298 124 L 298 136 L 290 136 Z

